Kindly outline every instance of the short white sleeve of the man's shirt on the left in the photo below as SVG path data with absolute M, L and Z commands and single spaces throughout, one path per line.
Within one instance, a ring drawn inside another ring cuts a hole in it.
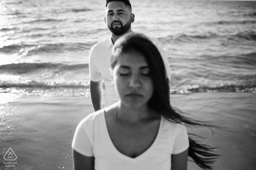
M 101 80 L 101 72 L 99 71 L 99 66 L 97 62 L 97 56 L 94 49 L 94 46 L 91 48 L 89 54 L 89 79 L 94 82 Z

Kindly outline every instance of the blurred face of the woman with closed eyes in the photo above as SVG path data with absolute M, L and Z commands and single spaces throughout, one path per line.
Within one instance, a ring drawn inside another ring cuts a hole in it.
M 120 55 L 112 70 L 112 79 L 116 95 L 128 107 L 146 106 L 154 91 L 146 59 L 136 50 Z

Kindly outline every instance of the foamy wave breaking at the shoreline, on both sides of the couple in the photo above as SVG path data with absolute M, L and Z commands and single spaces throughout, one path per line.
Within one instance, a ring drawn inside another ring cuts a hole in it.
M 103 86 L 103 90 L 105 86 Z M 19 95 L 39 95 L 44 97 L 86 96 L 90 97 L 89 82 L 54 83 L 54 82 L 0 82 L 0 93 Z M 170 88 L 170 94 L 191 94 L 202 92 L 245 92 L 256 94 L 254 85 L 227 85 L 219 87 Z

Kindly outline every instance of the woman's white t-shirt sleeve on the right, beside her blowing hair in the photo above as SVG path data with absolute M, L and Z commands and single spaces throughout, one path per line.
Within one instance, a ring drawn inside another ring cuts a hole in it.
M 173 154 L 180 154 L 188 149 L 188 133 L 184 125 L 179 124 L 177 136 L 174 142 Z

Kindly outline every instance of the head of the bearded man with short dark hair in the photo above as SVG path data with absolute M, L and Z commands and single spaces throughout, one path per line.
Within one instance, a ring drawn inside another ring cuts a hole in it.
M 131 9 L 121 1 L 112 1 L 106 7 L 106 25 L 116 36 L 126 33 L 131 28 L 133 19 Z

